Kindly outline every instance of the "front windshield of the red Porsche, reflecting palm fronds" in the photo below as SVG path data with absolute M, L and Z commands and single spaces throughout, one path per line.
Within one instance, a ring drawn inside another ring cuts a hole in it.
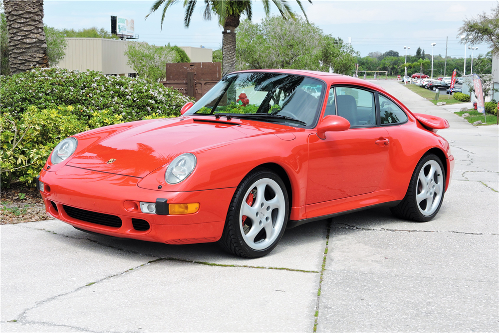
M 324 84 L 281 73 L 241 73 L 226 77 L 185 115 L 230 115 L 261 121 L 310 126 L 315 123 Z

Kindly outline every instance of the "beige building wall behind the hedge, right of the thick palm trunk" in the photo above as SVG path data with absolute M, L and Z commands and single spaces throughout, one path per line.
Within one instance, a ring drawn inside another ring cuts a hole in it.
M 127 65 L 127 41 L 105 38 L 66 38 L 66 41 L 66 55 L 57 65 L 60 68 L 117 75 L 135 73 Z

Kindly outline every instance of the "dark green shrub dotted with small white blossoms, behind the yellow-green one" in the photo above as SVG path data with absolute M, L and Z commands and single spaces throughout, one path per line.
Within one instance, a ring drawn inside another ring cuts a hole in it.
M 178 116 L 192 100 L 175 89 L 142 78 L 106 76 L 96 71 L 61 68 L 33 69 L 0 78 L 0 108 L 16 118 L 33 105 L 38 109 L 74 106 L 79 118 L 95 111 L 121 114 L 123 121 L 140 120 L 157 113 Z

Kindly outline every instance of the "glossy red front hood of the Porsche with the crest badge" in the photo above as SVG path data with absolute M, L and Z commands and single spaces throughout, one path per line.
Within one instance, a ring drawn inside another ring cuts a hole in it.
M 290 130 L 289 126 L 253 120 L 181 117 L 138 122 L 77 151 L 67 165 L 143 178 L 182 153 L 196 152 L 233 140 Z

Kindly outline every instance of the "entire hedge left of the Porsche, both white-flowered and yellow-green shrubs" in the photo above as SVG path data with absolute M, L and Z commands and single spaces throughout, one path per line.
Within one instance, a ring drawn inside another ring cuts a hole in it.
M 190 97 L 141 78 L 34 69 L 0 76 L 0 185 L 33 186 L 52 149 L 89 129 L 175 117 Z

